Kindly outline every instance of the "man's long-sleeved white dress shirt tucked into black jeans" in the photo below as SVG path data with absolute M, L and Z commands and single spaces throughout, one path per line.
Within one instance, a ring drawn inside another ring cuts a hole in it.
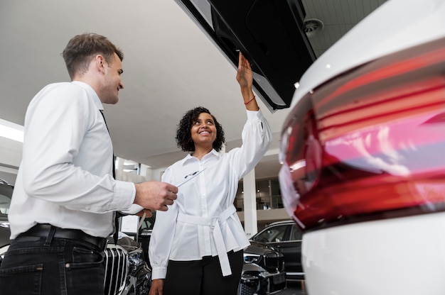
M 11 239 L 36 223 L 106 238 L 113 211 L 130 208 L 135 187 L 112 177 L 113 147 L 102 109 L 82 82 L 49 84 L 34 96 L 9 211 Z

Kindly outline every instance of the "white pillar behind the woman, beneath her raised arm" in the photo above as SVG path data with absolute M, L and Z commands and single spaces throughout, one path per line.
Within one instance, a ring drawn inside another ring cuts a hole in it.
M 242 179 L 244 191 L 244 230 L 247 238 L 258 231 L 257 224 L 257 188 L 255 186 L 255 169 Z

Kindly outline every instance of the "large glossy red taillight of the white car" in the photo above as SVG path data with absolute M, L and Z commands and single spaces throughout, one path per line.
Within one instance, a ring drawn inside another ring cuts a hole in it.
M 444 43 L 357 67 L 295 106 L 280 182 L 294 184 L 283 198 L 299 198 L 287 210 L 302 228 L 445 208 Z

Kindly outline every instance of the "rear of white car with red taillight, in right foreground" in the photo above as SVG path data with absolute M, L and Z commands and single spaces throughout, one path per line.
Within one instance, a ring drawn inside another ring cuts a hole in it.
M 301 78 L 279 179 L 311 295 L 445 292 L 444 16 L 387 1 Z

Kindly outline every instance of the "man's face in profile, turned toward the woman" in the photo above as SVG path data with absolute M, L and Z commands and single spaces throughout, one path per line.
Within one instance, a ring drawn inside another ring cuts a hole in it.
M 102 85 L 101 101 L 104 104 L 116 104 L 119 101 L 119 90 L 124 89 L 122 84 L 121 74 L 124 72 L 122 69 L 122 62 L 114 53 L 112 62 L 105 62 L 104 65 L 104 84 Z

